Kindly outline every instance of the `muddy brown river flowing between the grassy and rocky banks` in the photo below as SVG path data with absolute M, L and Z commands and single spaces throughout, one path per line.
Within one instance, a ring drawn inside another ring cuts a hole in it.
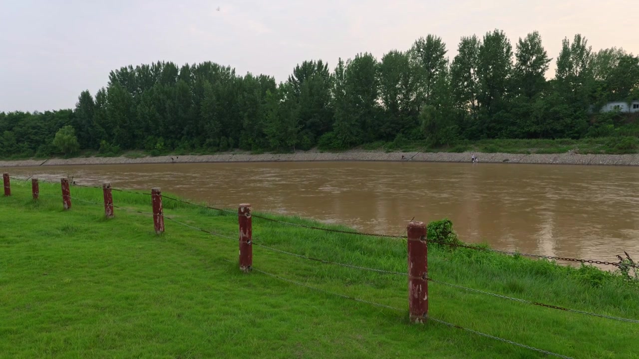
M 639 168 L 423 162 L 256 162 L 3 169 L 404 234 L 450 218 L 463 241 L 546 256 L 639 259 Z M 117 204 L 117 203 L 116 203 Z

